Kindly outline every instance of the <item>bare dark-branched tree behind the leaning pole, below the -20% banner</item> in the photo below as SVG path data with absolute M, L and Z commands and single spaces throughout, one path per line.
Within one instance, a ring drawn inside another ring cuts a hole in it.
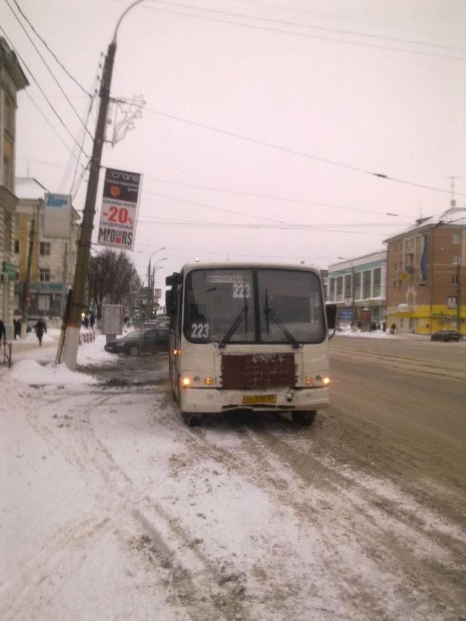
M 124 252 L 104 250 L 90 257 L 87 303 L 89 309 L 97 311 L 97 318 L 101 316 L 103 303 L 127 306 L 139 287 L 136 268 Z

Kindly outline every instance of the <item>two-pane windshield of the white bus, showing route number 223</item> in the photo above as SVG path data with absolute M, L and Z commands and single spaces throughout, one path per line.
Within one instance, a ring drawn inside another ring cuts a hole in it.
M 186 275 L 184 335 L 193 343 L 303 344 L 326 338 L 319 276 L 296 268 L 199 268 Z

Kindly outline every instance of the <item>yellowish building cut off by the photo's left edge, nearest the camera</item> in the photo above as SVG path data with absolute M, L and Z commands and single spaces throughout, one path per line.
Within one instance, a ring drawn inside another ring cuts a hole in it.
M 0 37 L 0 318 L 8 339 L 13 337 L 14 287 L 17 263 L 14 252 L 15 136 L 17 92 L 29 86 L 15 53 Z

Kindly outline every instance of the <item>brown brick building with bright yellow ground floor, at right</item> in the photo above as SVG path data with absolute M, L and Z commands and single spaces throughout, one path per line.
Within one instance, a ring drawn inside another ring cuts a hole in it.
M 419 218 L 387 245 L 387 323 L 400 332 L 466 334 L 466 208 Z

